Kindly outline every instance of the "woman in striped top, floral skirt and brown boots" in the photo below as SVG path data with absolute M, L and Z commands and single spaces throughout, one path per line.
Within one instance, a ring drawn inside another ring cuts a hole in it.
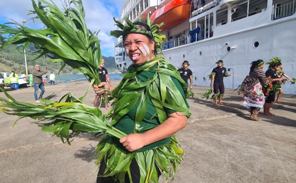
M 264 67 L 264 61 L 257 60 L 252 61 L 250 67 L 250 73 L 243 81 L 245 85 L 244 102 L 243 105 L 248 109 L 251 109 L 250 119 L 259 121 L 258 113 L 265 103 L 264 92 L 262 86 L 266 85 L 268 81 L 262 68 Z

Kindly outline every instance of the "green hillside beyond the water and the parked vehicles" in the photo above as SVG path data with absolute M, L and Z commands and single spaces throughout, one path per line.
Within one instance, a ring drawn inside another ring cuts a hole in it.
M 34 47 L 30 47 L 34 49 Z M 22 53 L 22 49 L 18 49 L 17 46 L 9 45 L 0 50 L 0 72 L 11 72 L 14 70 L 19 73 L 26 73 L 25 69 L 25 55 Z M 35 65 L 39 64 L 41 66 L 41 70 L 47 67 L 48 72 L 58 73 L 61 67 L 61 63 L 51 63 L 49 61 L 45 61 L 43 58 L 37 58 L 37 55 L 33 53 L 30 49 L 26 49 L 26 60 L 28 73 L 29 71 L 35 69 Z M 114 61 L 114 57 L 105 57 L 102 56 L 105 60 L 105 67 L 108 72 L 118 72 L 116 68 L 116 64 Z M 60 74 L 77 74 L 78 72 L 71 68 L 70 66 L 66 66 L 63 68 Z

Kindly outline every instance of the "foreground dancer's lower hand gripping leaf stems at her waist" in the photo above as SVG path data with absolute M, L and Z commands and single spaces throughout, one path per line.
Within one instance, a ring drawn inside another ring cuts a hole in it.
M 145 140 L 143 139 L 143 134 L 141 133 L 131 133 L 125 137 L 122 137 L 119 142 L 129 152 L 137 151 L 145 146 Z

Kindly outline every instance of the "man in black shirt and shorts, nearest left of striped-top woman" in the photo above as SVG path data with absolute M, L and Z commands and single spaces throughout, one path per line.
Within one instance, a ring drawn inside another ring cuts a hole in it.
M 219 60 L 216 63 L 217 63 L 217 67 L 215 67 L 212 71 L 211 87 L 213 87 L 213 83 L 214 83 L 214 97 L 215 97 L 214 105 L 217 105 L 218 98 L 219 98 L 219 104 L 223 105 L 222 97 L 224 96 L 224 90 L 225 90 L 223 78 L 230 76 L 230 74 L 227 74 L 226 68 L 223 67 L 222 60 Z M 218 94 L 219 92 L 220 94 Z

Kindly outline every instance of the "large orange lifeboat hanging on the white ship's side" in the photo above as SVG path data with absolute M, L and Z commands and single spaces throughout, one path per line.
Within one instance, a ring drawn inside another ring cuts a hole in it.
M 153 24 L 163 22 L 164 25 L 160 29 L 168 30 L 187 20 L 190 6 L 191 0 L 172 0 L 153 12 L 150 19 L 154 21 Z

